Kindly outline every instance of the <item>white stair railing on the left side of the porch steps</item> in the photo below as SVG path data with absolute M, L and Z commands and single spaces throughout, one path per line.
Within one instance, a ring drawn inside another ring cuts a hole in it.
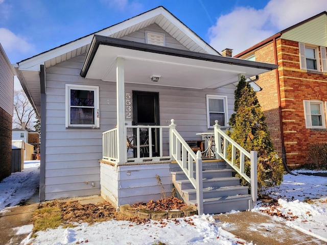
M 188 143 L 181 137 L 175 129 L 175 120 L 171 119 L 170 125 L 170 155 L 176 161 L 184 174 L 191 181 L 196 190 L 196 202 L 198 214 L 203 214 L 203 183 L 202 183 L 202 159 L 201 152 L 193 152 Z M 195 162 L 195 169 L 193 169 Z M 195 170 L 195 178 L 194 178 Z

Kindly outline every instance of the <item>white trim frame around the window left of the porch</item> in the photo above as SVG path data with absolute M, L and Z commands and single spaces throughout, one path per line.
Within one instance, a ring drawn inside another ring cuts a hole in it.
M 71 89 L 77 89 L 77 90 L 92 90 L 95 91 L 94 99 L 95 99 L 95 110 L 94 110 L 94 124 L 71 124 L 71 110 L 70 110 L 70 104 L 71 104 Z M 65 103 L 65 108 L 66 108 L 66 113 L 65 113 L 65 125 L 66 128 L 73 128 L 73 127 L 84 127 L 84 128 L 99 128 L 100 127 L 100 118 L 99 118 L 99 113 L 100 113 L 100 108 L 99 108 L 99 87 L 98 86 L 89 86 L 89 85 L 77 85 L 77 84 L 66 84 L 65 86 L 66 90 L 66 103 Z

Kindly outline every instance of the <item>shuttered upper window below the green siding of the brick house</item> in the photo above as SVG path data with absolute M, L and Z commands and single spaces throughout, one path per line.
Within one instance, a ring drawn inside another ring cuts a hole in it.
M 301 42 L 298 43 L 298 46 L 300 54 L 300 68 L 302 70 L 327 72 L 326 47 L 320 46 L 320 48 L 318 48 L 317 46 L 310 46 Z

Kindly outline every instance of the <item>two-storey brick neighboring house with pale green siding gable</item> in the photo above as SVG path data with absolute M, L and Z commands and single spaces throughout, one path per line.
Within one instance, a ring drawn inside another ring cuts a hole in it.
M 310 163 L 308 146 L 327 142 L 327 12 L 234 56 L 278 64 L 257 92 L 276 151 L 290 168 Z

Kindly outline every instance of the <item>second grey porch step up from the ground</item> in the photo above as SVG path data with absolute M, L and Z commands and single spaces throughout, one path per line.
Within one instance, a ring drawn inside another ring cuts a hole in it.
M 181 192 L 184 200 L 196 199 L 196 191 L 194 188 L 184 189 L 181 190 Z M 203 199 L 228 197 L 229 195 L 246 195 L 246 194 L 248 194 L 248 187 L 242 185 L 203 189 Z

